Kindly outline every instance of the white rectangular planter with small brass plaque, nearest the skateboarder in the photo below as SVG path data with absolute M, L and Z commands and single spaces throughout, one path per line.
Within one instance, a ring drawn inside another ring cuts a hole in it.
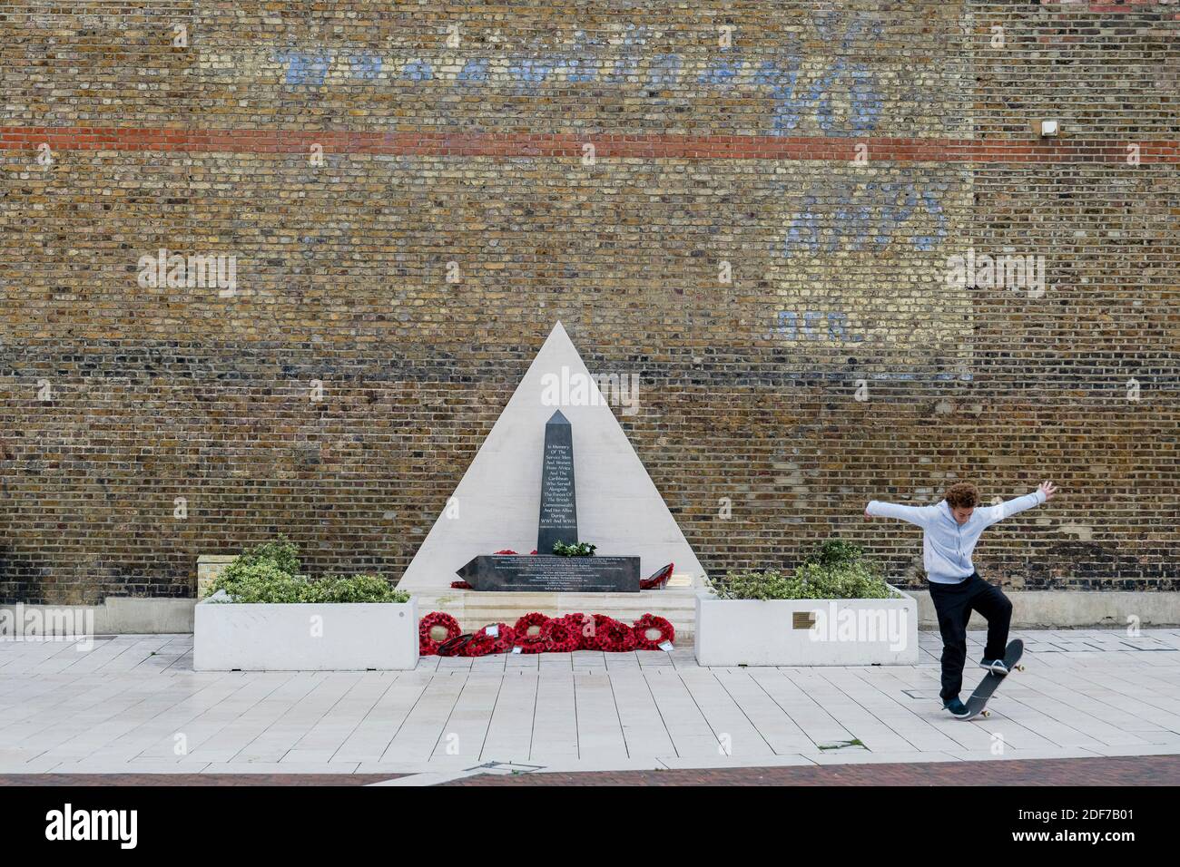
M 917 665 L 918 603 L 696 597 L 701 665 Z

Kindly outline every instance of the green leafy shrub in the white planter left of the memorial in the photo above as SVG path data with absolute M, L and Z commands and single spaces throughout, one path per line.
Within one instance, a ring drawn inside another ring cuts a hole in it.
M 299 549 L 280 536 L 229 563 L 210 584 L 209 592 L 224 590 L 235 603 L 409 602 L 409 593 L 391 587 L 379 574 L 309 580 L 296 574 L 299 566 Z

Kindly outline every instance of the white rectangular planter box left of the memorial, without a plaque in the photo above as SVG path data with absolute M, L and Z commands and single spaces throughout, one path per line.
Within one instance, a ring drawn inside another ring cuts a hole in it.
M 201 602 L 192 644 L 196 671 L 412 669 L 418 604 Z

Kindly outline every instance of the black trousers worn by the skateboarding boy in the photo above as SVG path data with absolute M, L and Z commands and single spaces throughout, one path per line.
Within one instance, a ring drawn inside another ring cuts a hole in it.
M 1012 620 L 1012 603 L 999 587 L 988 584 L 978 572 L 958 584 L 930 582 L 930 599 L 938 612 L 938 631 L 943 633 L 944 702 L 963 689 L 963 663 L 966 662 L 966 622 L 978 611 L 988 622 L 985 659 L 1003 659 L 1008 646 L 1008 624 Z

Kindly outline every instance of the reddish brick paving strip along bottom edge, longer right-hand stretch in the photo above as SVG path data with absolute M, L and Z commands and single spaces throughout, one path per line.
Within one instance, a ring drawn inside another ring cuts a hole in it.
M 441 786 L 1176 786 L 1180 756 L 480 774 Z

